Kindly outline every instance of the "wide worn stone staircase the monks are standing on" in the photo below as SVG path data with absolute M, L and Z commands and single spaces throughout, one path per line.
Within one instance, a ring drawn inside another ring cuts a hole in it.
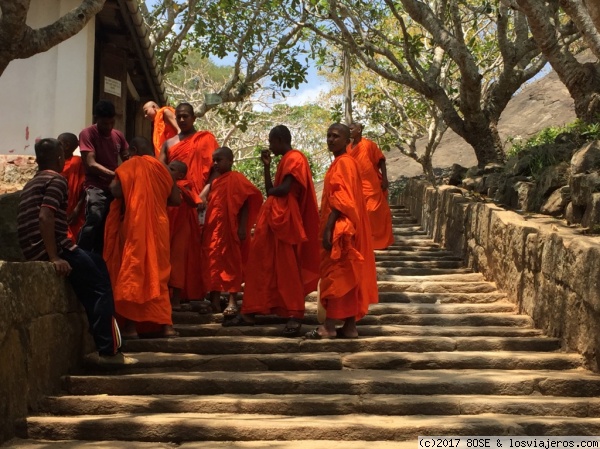
M 66 376 L 64 394 L 20 429 L 29 440 L 10 447 L 397 448 L 418 435 L 600 434 L 600 376 L 405 209 L 393 213 L 396 243 L 377 251 L 380 303 L 359 339 L 287 339 L 276 317 L 223 328 L 220 316 L 179 313 L 180 338 L 127 342 L 139 364 Z

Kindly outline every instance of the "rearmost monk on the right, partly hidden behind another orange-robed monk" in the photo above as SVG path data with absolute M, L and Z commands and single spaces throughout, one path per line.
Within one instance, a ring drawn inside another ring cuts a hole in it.
M 352 144 L 348 144 L 347 152 L 358 162 L 373 233 L 373 248 L 384 249 L 394 243 L 385 156 L 375 142 L 362 136 L 362 129 L 360 123 L 350 125 Z

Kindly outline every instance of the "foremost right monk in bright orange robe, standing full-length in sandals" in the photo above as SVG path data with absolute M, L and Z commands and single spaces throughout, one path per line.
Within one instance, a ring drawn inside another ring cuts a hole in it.
M 369 304 L 378 302 L 377 273 L 371 227 L 357 162 L 346 153 L 347 126 L 336 123 L 327 131 L 327 147 L 335 160 L 327 170 L 321 198 L 320 302 L 325 323 L 308 332 L 308 339 L 356 338 L 356 322 Z M 340 329 L 336 321 L 343 320 Z

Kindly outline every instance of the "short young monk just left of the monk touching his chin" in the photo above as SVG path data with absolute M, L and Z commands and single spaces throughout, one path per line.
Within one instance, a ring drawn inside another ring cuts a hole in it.
M 204 285 L 214 307 L 220 307 L 221 292 L 229 293 L 225 317 L 236 316 L 237 293 L 242 289 L 248 260 L 250 232 L 262 205 L 262 193 L 244 175 L 231 171 L 233 152 L 228 147 L 213 153 L 215 179 L 200 197 L 206 204 L 202 234 L 202 258 L 205 261 Z

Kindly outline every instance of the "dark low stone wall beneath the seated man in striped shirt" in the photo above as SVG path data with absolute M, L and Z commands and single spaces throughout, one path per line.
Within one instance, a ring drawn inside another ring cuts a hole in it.
M 0 443 L 94 348 L 85 312 L 47 262 L 0 261 Z

